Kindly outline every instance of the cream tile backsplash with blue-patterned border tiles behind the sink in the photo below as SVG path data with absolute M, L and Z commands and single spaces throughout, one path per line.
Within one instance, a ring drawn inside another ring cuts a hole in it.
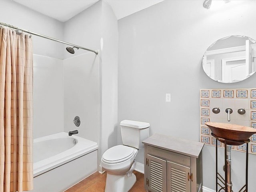
M 220 113 L 212 112 L 219 108 Z M 226 108 L 233 110 L 228 121 Z M 238 109 L 244 109 L 245 114 L 238 114 Z M 216 146 L 216 138 L 206 122 L 223 122 L 256 128 L 256 88 L 253 89 L 201 89 L 200 90 L 200 139 L 204 144 Z M 252 135 L 249 143 L 249 153 L 256 154 L 256 134 Z M 220 141 L 217 145 L 224 147 Z M 232 146 L 232 150 L 246 152 L 246 144 Z

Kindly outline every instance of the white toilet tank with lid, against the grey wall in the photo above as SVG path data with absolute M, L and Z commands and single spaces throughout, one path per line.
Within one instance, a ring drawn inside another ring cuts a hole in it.
M 123 120 L 120 122 L 122 142 L 126 146 L 143 148 L 142 141 L 148 138 L 149 123 Z

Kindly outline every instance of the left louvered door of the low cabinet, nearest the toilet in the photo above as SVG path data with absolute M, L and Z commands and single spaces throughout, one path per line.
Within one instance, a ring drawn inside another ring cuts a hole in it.
M 148 190 L 166 192 L 166 160 L 148 155 Z

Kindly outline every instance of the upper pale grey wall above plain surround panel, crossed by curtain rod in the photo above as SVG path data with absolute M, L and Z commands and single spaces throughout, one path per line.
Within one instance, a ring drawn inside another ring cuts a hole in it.
M 9 0 L 1 0 L 0 7 L 0 22 L 63 40 L 62 22 Z M 63 58 L 62 44 L 34 35 L 32 38 L 34 54 Z

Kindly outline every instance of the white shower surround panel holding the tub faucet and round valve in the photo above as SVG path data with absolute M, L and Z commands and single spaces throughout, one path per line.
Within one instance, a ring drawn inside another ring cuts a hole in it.
M 100 127 L 99 56 L 89 52 L 63 61 L 64 132 L 98 142 Z M 73 123 L 80 117 L 80 126 Z

